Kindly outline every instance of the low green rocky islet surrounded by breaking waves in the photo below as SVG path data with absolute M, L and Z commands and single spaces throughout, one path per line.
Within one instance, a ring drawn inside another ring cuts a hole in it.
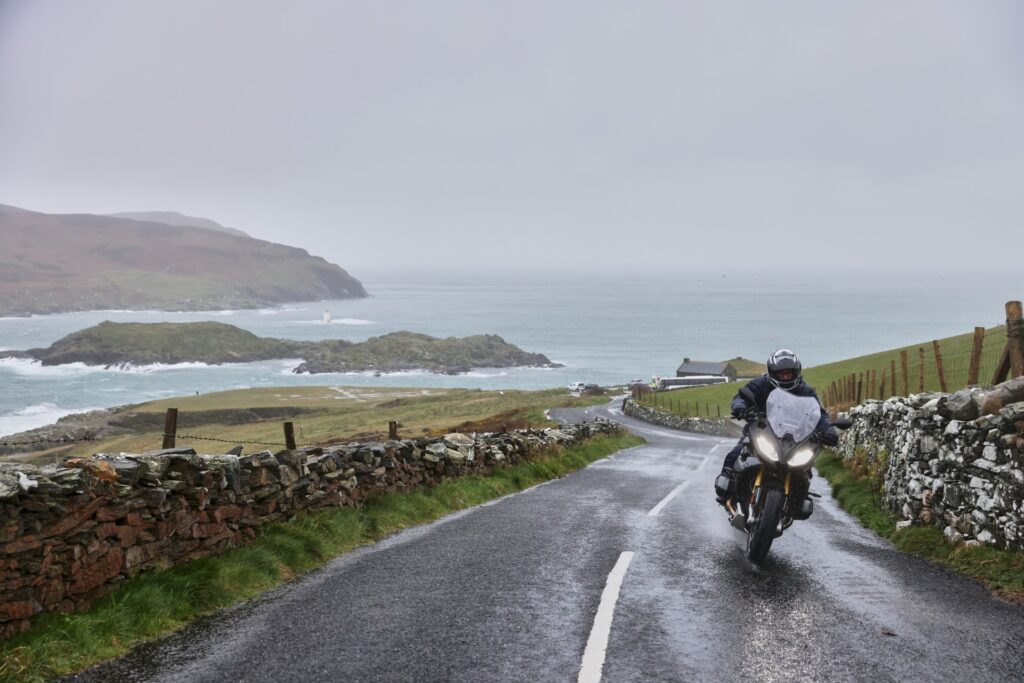
M 397 372 L 426 370 L 454 375 L 474 368 L 558 367 L 542 353 L 528 353 L 495 335 L 436 339 L 395 332 L 354 344 L 272 339 L 224 323 L 100 323 L 74 332 L 46 348 L 12 351 L 44 366 L 156 362 L 249 362 L 302 358 L 297 373 Z

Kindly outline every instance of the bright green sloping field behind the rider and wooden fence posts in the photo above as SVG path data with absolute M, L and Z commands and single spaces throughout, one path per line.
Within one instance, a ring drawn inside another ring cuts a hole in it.
M 974 335 L 972 333 L 938 340 L 942 350 L 942 365 L 946 384 L 951 391 L 959 389 L 967 384 L 973 338 Z M 979 374 L 980 382 L 984 383 L 991 380 L 1006 340 L 1006 326 L 998 326 L 985 331 L 985 344 L 981 356 L 981 372 Z M 818 395 L 821 396 L 822 400 L 826 400 L 827 397 L 825 394 L 831 382 L 842 380 L 850 374 L 857 374 L 859 376 L 862 373 L 874 371 L 878 377 L 874 397 L 878 398 L 880 397 L 882 371 L 885 370 L 888 376 L 892 367 L 891 361 L 895 361 L 898 378 L 897 391 L 895 393 L 903 394 L 900 373 L 900 351 L 905 350 L 909 357 L 907 384 L 909 385 L 909 392 L 914 393 L 920 386 L 919 349 L 921 348 L 925 349 L 925 390 L 938 391 L 940 387 L 931 341 L 861 355 L 846 360 L 838 360 L 814 368 L 807 368 L 804 370 L 804 379 L 818 390 Z M 708 415 L 711 417 L 719 415 L 727 417 L 729 415 L 729 403 L 732 401 L 732 397 L 736 395 L 736 391 L 740 386 L 742 385 L 718 384 L 707 387 L 694 387 L 692 389 L 663 391 L 643 396 L 641 402 L 648 405 L 655 405 L 670 413 L 690 417 L 703 417 Z M 888 397 L 891 395 L 894 395 L 892 382 L 891 380 L 887 380 L 885 396 Z

